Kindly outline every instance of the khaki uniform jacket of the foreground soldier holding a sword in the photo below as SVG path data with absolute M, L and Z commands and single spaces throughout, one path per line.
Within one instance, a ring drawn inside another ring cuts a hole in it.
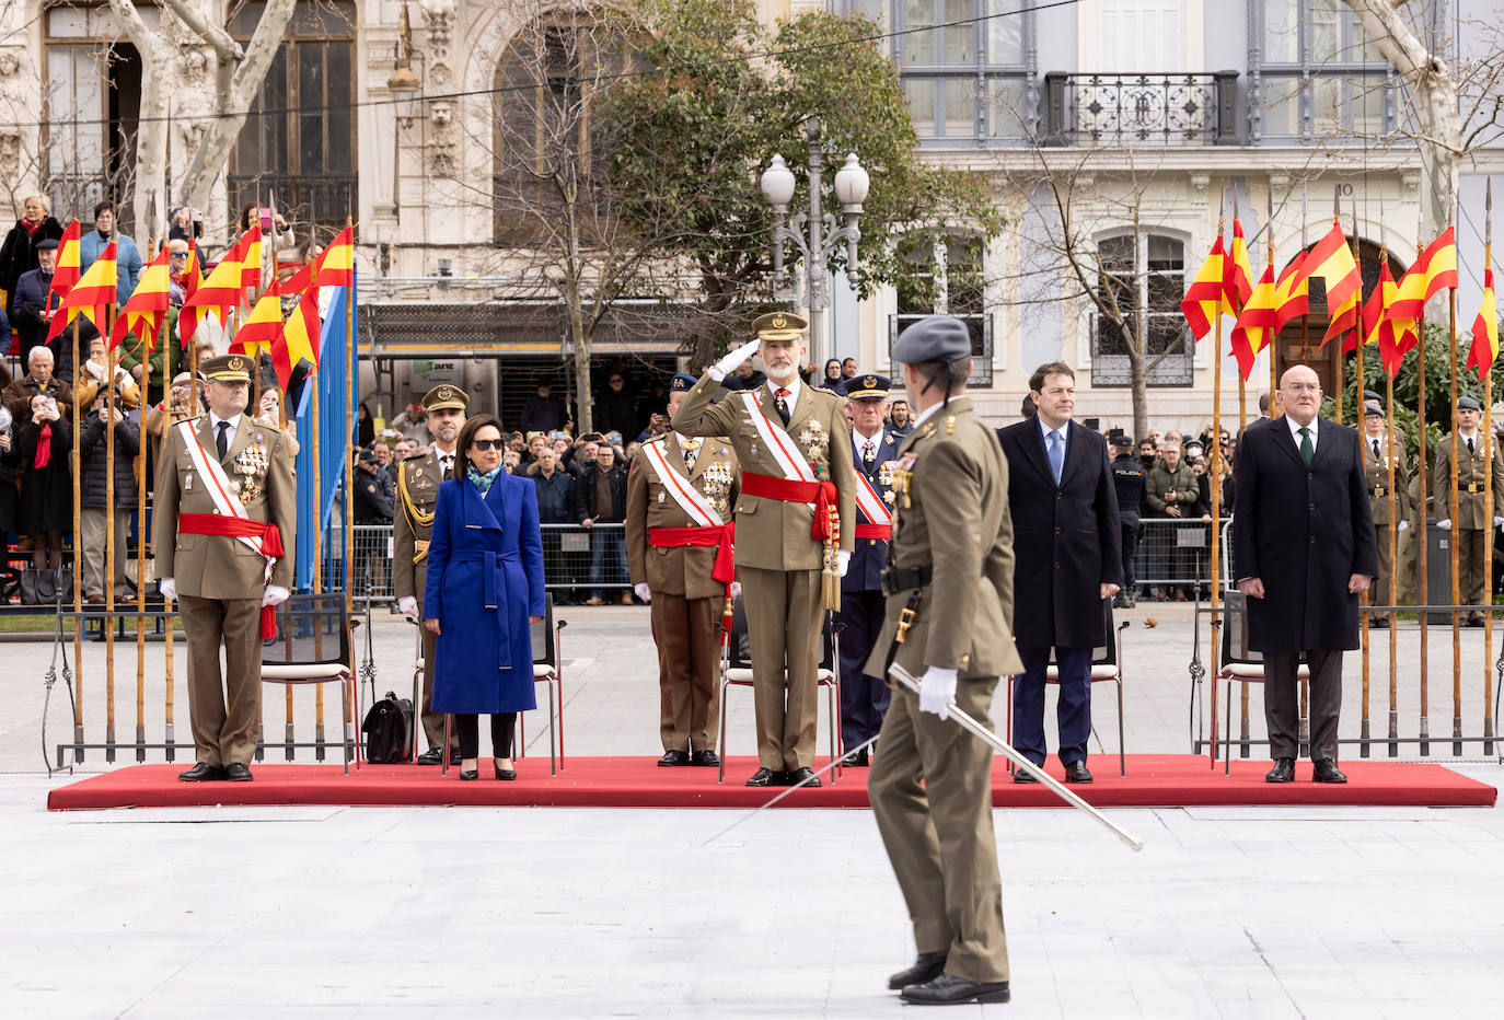
M 957 397 L 898 448 L 892 554 L 896 567 L 931 567 L 895 662 L 963 677 L 1023 672 L 1014 648 L 1014 524 L 1008 462 L 993 430 Z M 866 672 L 886 677 L 887 653 L 911 591 L 887 597 L 883 633 Z

